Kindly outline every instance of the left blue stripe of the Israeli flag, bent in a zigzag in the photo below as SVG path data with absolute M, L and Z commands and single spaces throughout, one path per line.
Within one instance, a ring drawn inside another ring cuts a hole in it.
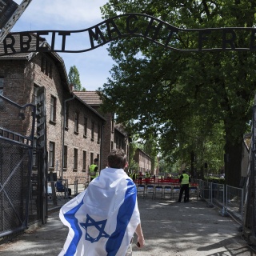
M 70 226 L 74 231 L 74 237 L 70 242 L 70 246 L 66 250 L 66 254 L 65 254 L 66 256 L 72 256 L 75 254 L 77 250 L 78 242 L 82 237 L 82 230 L 78 225 L 78 219 L 74 217 L 74 214 L 78 212 L 82 204 L 83 204 L 83 199 L 82 199 L 82 202 L 78 204 L 78 206 L 75 206 L 73 209 L 69 210 L 68 212 L 66 212 L 66 214 L 64 214 L 64 218 L 66 218 L 66 221 L 70 223 Z

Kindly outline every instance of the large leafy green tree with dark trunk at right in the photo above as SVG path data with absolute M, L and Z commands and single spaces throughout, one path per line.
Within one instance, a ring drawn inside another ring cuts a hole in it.
M 136 5 L 131 0 L 110 0 L 102 7 L 102 14 L 105 18 L 129 12 L 150 14 L 183 28 L 253 27 L 255 5 L 252 0 L 144 0 Z M 221 39 L 217 37 L 213 44 Z M 177 48 L 186 49 L 197 40 L 188 34 L 186 40 L 177 36 L 175 43 Z M 237 41 L 250 45 L 250 38 L 243 33 Z M 239 186 L 242 138 L 248 130 L 256 87 L 254 52 L 184 54 L 142 38 L 111 42 L 109 51 L 117 65 L 100 91 L 106 110 L 117 113 L 118 122 L 136 120 L 133 129 L 139 134 L 166 136 L 169 152 L 174 145 L 184 147 L 185 128 L 181 126 L 193 126 L 188 122 L 191 116 L 200 117 L 195 128 L 199 125 L 198 132 L 206 132 L 203 138 L 209 143 L 204 145 L 210 146 L 210 134 L 219 125 L 224 151 L 230 156 L 225 165 L 226 181 Z M 173 141 L 167 137 L 170 133 Z

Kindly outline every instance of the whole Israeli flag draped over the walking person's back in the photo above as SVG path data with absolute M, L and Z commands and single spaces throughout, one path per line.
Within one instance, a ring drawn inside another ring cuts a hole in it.
M 59 217 L 69 234 L 58 256 L 125 256 L 140 223 L 136 186 L 124 170 L 103 169 Z

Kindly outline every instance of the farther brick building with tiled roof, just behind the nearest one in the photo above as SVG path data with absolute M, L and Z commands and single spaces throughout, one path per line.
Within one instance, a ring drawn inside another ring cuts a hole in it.
M 99 110 L 102 104 L 97 92 L 95 91 L 76 91 L 74 92 L 78 98 L 86 102 L 88 105 L 97 110 L 98 113 L 102 114 Z M 114 114 L 102 114 L 106 118 L 103 129 L 104 142 L 102 144 L 102 168 L 107 164 L 107 156 L 110 150 L 122 148 L 126 151 L 127 157 L 129 158 L 129 136 L 122 127 L 122 125 L 114 122 Z

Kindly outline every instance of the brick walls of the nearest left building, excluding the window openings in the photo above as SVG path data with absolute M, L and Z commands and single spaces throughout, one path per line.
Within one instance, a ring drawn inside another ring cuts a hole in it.
M 6 98 L 17 102 L 20 105 L 33 102 L 34 86 L 43 86 L 46 88 L 46 146 L 49 151 L 49 143 L 55 144 L 55 161 L 52 170 L 57 172 L 59 177 L 62 174 L 62 134 L 63 134 L 63 118 L 64 118 L 64 100 L 71 98 L 72 95 L 68 89 L 63 86 L 63 82 L 56 66 L 56 60 L 48 58 L 52 64 L 52 78 L 42 73 L 41 63 L 42 55 L 37 54 L 31 61 L 6 60 L 0 61 L 0 76 L 4 78 L 3 94 Z M 46 56 L 46 55 L 44 55 Z M 60 66 L 60 65 L 59 65 Z M 50 122 L 50 98 L 56 98 L 56 120 Z M 68 146 L 68 166 L 63 172 L 63 178 L 69 179 L 69 184 L 74 183 L 76 176 L 85 176 L 82 171 L 83 166 L 83 150 L 86 151 L 86 166 L 90 165 L 90 154 L 94 154 L 94 158 L 101 154 L 100 143 L 98 143 L 98 123 L 102 129 L 102 118 L 98 117 L 90 108 L 82 104 L 78 100 L 68 102 L 70 106 L 69 129 L 65 130 L 65 142 Z M 74 112 L 79 112 L 79 133 L 74 134 Z M 88 118 L 87 138 L 83 137 L 83 116 L 86 114 Z M 91 121 L 94 120 L 94 141 L 91 140 Z M 26 128 L 25 128 L 26 129 Z M 78 149 L 78 169 L 74 171 L 74 148 Z

